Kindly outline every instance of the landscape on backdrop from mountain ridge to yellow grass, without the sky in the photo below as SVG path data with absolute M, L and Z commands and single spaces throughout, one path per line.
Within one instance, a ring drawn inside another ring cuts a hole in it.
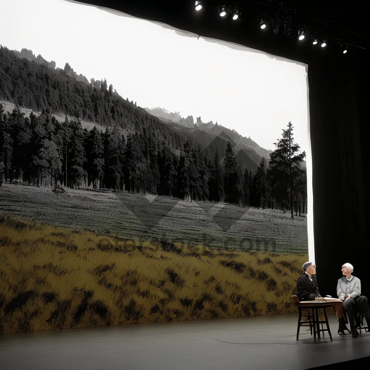
M 307 175 L 293 124 L 267 150 L 138 104 L 0 47 L 0 332 L 294 310 Z

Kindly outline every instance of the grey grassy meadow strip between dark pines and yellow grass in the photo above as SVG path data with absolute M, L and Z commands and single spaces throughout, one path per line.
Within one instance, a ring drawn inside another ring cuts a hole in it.
M 0 214 L 55 227 L 137 240 L 208 245 L 218 250 L 307 253 L 307 219 L 290 212 L 149 194 L 3 183 Z

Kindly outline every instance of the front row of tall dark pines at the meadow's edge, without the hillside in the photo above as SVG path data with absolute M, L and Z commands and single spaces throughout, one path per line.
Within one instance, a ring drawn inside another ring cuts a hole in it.
M 293 140 L 289 122 L 270 160 L 244 171 L 228 143 L 220 162 L 188 139 L 172 149 L 155 131 L 124 135 L 83 128 L 79 119 L 57 121 L 46 108 L 25 117 L 18 107 L 5 114 L 0 104 L 0 149 L 4 180 L 36 186 L 111 189 L 173 196 L 189 201 L 227 202 L 305 213 L 305 153 Z

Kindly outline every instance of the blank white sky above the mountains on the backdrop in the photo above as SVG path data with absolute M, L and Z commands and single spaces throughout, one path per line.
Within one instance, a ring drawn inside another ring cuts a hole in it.
M 106 78 L 140 107 L 217 121 L 265 149 L 292 121 L 308 152 L 302 65 L 64 0 L 0 1 L 0 44 L 31 49 L 57 67 L 68 62 L 89 81 Z

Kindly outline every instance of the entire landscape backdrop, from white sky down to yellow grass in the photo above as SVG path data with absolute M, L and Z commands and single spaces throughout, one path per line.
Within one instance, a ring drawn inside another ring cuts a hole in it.
M 293 312 L 305 67 L 66 1 L 1 7 L 0 332 Z

